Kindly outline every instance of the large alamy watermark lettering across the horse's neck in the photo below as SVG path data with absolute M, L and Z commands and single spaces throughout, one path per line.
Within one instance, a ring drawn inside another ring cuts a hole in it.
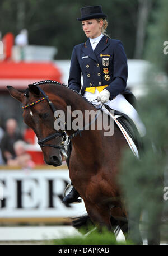
M 110 114 L 114 116 L 114 111 L 110 110 Z M 54 122 L 54 129 L 61 130 L 102 130 L 104 136 L 113 136 L 114 134 L 114 119 L 101 110 L 71 110 L 71 106 L 67 106 L 67 111 L 57 110 L 54 113 L 57 118 Z

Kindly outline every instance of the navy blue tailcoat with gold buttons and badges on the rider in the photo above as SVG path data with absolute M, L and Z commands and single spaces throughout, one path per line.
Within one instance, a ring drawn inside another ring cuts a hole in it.
M 107 65 L 107 66 L 106 66 Z M 105 72 L 108 71 L 108 79 Z M 81 86 L 81 73 L 83 85 Z M 68 86 L 83 95 L 86 87 L 105 86 L 110 92 L 110 100 L 118 94 L 132 94 L 126 90 L 128 76 L 127 56 L 121 41 L 103 36 L 92 50 L 90 40 L 74 46 Z M 127 99 L 127 96 L 125 97 Z M 130 100 L 129 100 L 130 101 Z

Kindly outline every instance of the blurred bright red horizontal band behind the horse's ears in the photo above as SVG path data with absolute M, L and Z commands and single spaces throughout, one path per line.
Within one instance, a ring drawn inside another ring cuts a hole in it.
M 52 62 L 0 62 L 0 89 L 7 85 L 25 89 L 41 80 L 62 82 L 62 73 Z

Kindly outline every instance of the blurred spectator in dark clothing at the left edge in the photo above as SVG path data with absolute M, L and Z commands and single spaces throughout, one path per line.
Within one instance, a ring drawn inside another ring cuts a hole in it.
M 17 122 L 15 119 L 10 118 L 6 122 L 6 132 L 1 139 L 1 151 L 4 162 L 16 157 L 13 143 L 22 139 L 22 136 L 17 131 Z

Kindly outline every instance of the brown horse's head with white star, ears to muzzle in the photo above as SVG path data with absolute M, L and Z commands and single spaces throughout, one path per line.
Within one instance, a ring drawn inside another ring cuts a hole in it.
M 48 97 L 39 86 L 34 84 L 29 85 L 24 92 L 12 86 L 7 86 L 7 89 L 12 97 L 22 103 L 24 122 L 34 130 L 38 137 L 46 164 L 62 165 L 62 161 L 65 160 L 64 147 L 61 145 L 63 133 L 56 132 L 54 129 L 54 106 L 50 105 L 52 99 L 49 100 L 52 94 Z

